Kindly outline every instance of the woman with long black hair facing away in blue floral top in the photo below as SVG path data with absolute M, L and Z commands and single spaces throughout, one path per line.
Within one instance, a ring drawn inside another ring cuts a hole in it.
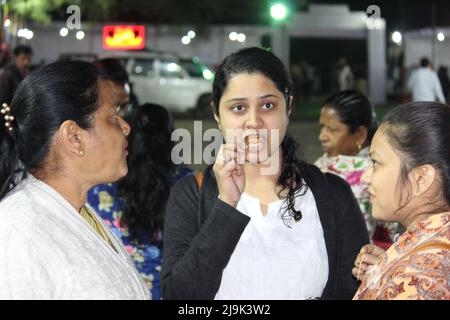
M 159 300 L 166 202 L 171 186 L 193 171 L 171 161 L 173 126 L 164 107 L 140 106 L 130 125 L 127 176 L 91 189 L 88 203 L 122 240 L 152 299 Z

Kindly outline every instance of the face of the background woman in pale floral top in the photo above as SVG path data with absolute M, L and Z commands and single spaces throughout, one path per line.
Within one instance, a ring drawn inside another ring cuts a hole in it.
M 320 134 L 323 151 L 330 157 L 342 155 L 356 155 L 358 144 L 364 144 L 358 132 L 350 133 L 350 128 L 341 122 L 336 111 L 330 107 L 323 107 L 320 112 Z

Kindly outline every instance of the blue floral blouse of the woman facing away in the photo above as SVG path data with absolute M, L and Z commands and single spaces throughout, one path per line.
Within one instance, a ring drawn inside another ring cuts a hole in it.
M 193 170 L 179 166 L 172 175 L 172 185 L 184 176 L 193 174 Z M 95 186 L 88 192 L 87 202 L 102 217 L 114 234 L 122 241 L 136 269 L 144 279 L 153 300 L 160 300 L 159 287 L 162 264 L 162 232 L 153 241 L 139 242 L 132 239 L 127 226 L 122 224 L 122 208 L 125 201 L 119 197 L 117 184 L 108 183 Z

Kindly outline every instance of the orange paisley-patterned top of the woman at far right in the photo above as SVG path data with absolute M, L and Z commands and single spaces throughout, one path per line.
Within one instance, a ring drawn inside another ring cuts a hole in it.
M 354 300 L 450 300 L 450 212 L 405 232 L 362 279 Z

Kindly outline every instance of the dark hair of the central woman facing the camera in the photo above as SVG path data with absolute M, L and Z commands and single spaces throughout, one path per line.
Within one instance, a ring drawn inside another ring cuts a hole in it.
M 251 47 L 241 49 L 226 57 L 219 65 L 213 82 L 213 108 L 219 116 L 219 103 L 231 78 L 240 73 L 259 73 L 272 80 L 280 92 L 284 94 L 286 100 L 286 111 L 289 111 L 292 95 L 292 81 L 289 78 L 283 62 L 272 52 L 265 49 Z M 288 191 L 286 197 L 286 210 L 282 214 L 282 219 L 293 217 L 296 221 L 302 218 L 300 210 L 295 208 L 296 193 L 303 189 L 307 191 L 306 184 L 303 183 L 302 173 L 305 162 L 297 157 L 297 143 L 286 133 L 282 143 L 282 163 L 281 174 L 277 184 L 281 186 L 279 196 L 285 190 Z M 286 220 L 285 220 L 286 221 Z

